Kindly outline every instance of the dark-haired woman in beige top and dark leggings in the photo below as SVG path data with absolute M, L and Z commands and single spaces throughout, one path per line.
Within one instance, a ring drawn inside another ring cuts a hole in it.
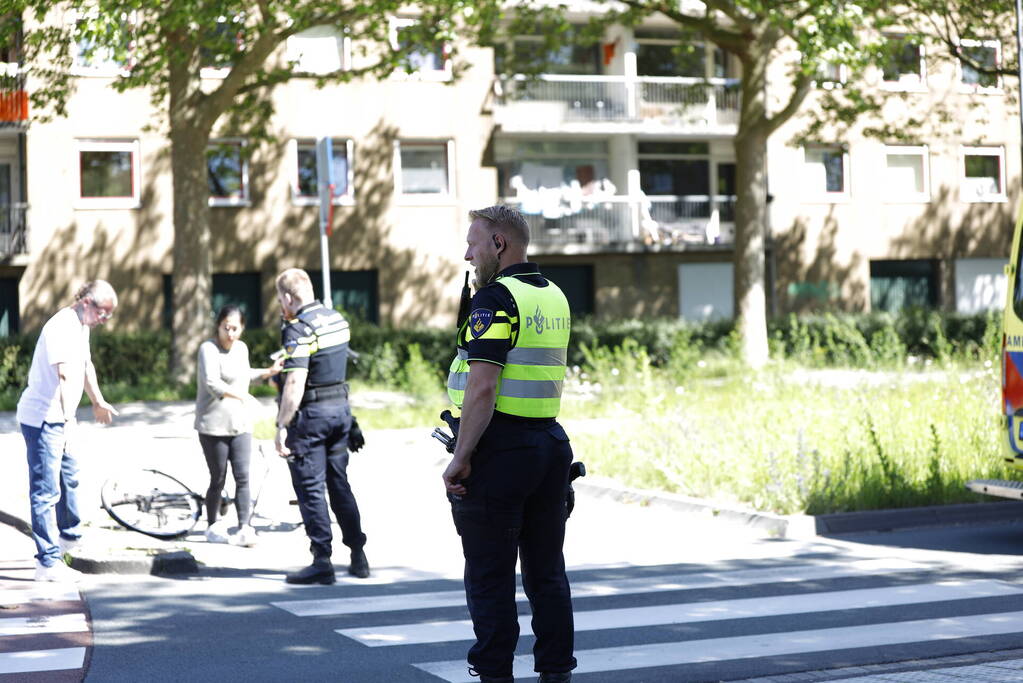
M 195 430 L 210 468 L 210 487 L 206 492 L 209 527 L 206 540 L 211 543 L 253 545 L 256 531 L 252 518 L 252 494 L 249 490 L 249 461 L 252 454 L 252 406 L 249 382 L 280 372 L 281 362 L 268 368 L 249 365 L 249 347 L 240 339 L 246 319 L 236 306 L 225 306 L 217 314 L 216 335 L 198 348 L 198 371 L 195 390 Z M 217 520 L 220 499 L 227 480 L 227 463 L 234 475 L 234 506 L 238 530 L 228 534 L 226 520 Z

